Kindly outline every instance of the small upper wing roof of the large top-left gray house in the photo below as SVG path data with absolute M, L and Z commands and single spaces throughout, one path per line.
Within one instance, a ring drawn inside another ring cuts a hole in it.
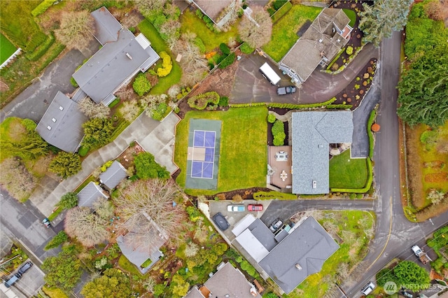
M 118 31 L 123 27 L 107 8 L 103 6 L 102 8 L 92 11 L 90 15 L 92 15 L 95 20 L 96 31 L 94 36 L 99 43 L 105 45 L 111 41 L 117 41 Z

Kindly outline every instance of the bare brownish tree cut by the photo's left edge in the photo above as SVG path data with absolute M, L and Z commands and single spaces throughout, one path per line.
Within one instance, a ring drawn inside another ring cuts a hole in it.
M 1 163 L 0 183 L 15 199 L 27 199 L 36 187 L 36 178 L 20 159 L 7 158 Z

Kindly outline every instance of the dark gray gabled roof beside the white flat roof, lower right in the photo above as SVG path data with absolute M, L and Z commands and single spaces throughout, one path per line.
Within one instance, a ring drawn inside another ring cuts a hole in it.
M 307 276 L 321 271 L 325 260 L 338 248 L 325 229 L 309 217 L 258 264 L 288 294 Z

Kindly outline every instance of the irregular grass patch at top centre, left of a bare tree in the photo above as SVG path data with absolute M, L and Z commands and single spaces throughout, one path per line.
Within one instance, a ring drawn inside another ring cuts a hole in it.
M 181 33 L 186 31 L 194 32 L 197 37 L 201 38 L 205 45 L 205 50 L 207 52 L 218 48 L 220 43 L 229 43 L 231 38 L 235 38 L 238 35 L 238 23 L 237 21 L 233 24 L 232 29 L 227 32 L 221 32 L 220 34 L 215 34 L 212 32 L 205 23 L 200 20 L 199 17 L 192 13 L 190 10 L 186 10 L 181 15 Z

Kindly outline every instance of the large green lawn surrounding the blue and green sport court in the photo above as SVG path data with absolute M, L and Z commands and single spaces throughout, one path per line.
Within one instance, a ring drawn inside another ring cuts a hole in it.
M 267 174 L 267 108 L 230 108 L 229 111 L 190 111 L 176 128 L 174 162 L 181 168 L 177 183 L 185 186 L 188 123 L 191 118 L 221 120 L 218 189 L 214 194 L 248 187 L 265 187 Z M 196 192 L 195 192 L 196 193 Z

